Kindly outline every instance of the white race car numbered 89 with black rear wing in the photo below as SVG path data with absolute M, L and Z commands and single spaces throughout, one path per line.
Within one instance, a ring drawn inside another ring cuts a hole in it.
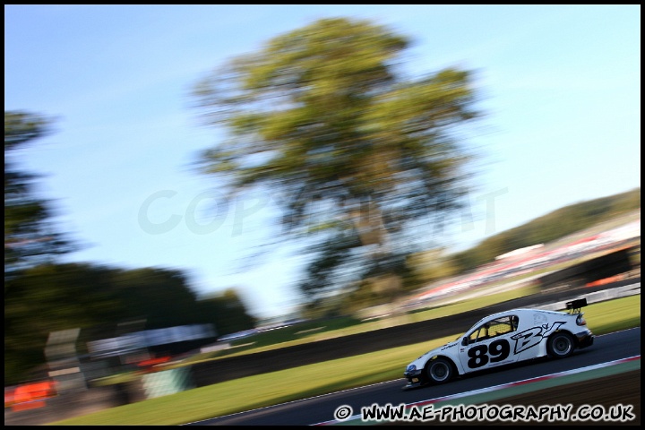
M 481 319 L 457 340 L 418 357 L 404 376 L 413 388 L 447 383 L 452 377 L 538 357 L 563 358 L 576 348 L 593 345 L 581 298 L 566 304 L 568 312 L 512 309 Z

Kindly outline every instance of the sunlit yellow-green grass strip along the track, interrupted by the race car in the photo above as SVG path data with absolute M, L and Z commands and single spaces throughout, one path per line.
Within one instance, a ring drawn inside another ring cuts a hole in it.
M 585 318 L 589 328 L 598 335 L 640 327 L 641 295 L 589 305 L 585 308 Z M 357 357 L 340 358 L 271 374 L 259 374 L 236 381 L 217 383 L 52 424 L 176 426 L 369 383 L 382 383 L 400 379 L 404 367 L 411 359 L 431 348 L 454 340 L 459 334 Z M 402 380 L 401 384 L 404 384 Z M 253 394 L 249 395 L 249 393 Z

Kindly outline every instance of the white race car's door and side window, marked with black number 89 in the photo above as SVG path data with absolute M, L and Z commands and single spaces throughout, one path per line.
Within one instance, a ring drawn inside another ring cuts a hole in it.
M 512 335 L 517 331 L 517 316 L 491 318 L 468 331 L 461 340 L 460 363 L 465 372 L 474 372 L 514 363 Z

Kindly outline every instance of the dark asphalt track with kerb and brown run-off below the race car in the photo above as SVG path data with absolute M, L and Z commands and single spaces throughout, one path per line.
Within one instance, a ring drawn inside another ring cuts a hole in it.
M 397 406 L 435 403 L 481 405 L 515 404 L 534 406 L 604 405 L 607 409 L 621 403 L 632 406 L 634 419 L 612 422 L 615 425 L 638 425 L 641 422 L 641 328 L 598 336 L 594 345 L 581 349 L 563 360 L 540 359 L 529 363 L 471 374 L 441 386 L 404 390 L 401 377 L 354 390 L 340 391 L 312 399 L 298 400 L 274 407 L 256 409 L 227 417 L 217 417 L 192 426 L 313 426 L 378 424 L 363 422 L 362 408 L 373 405 Z M 620 362 L 621 364 L 616 364 Z M 581 372 L 582 370 L 587 370 Z M 401 369 L 402 373 L 403 369 Z M 536 379 L 537 378 L 537 379 Z M 500 387 L 502 386 L 502 387 Z M 595 397 L 590 394 L 596 393 Z M 461 397 L 466 395 L 466 397 Z M 442 403 L 443 400 L 443 403 Z M 518 403 L 520 401 L 521 403 Z M 337 421 L 334 412 L 344 407 L 345 421 Z M 348 408 L 348 409 L 347 409 Z M 570 424 L 568 421 L 567 424 Z M 401 424 L 401 423 L 397 423 Z M 403 424 L 442 424 L 413 422 Z M 449 423 L 448 423 L 449 424 Z M 455 424 L 477 424 L 460 422 Z M 484 422 L 481 424 L 495 424 Z M 518 425 L 521 423 L 504 423 Z M 529 422 L 528 424 L 540 424 Z M 544 423 L 542 423 L 544 424 Z M 554 424 L 554 423 L 548 423 Z M 574 424 L 607 425 L 606 421 Z M 499 425 L 496 423 L 495 425 Z

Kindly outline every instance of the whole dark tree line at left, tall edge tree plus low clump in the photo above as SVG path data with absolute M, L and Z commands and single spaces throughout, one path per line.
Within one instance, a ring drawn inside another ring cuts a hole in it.
M 212 323 L 223 335 L 253 328 L 232 288 L 200 298 L 181 271 L 56 262 L 75 249 L 73 241 L 52 225 L 50 204 L 36 193 L 38 176 L 18 167 L 20 150 L 46 135 L 51 121 L 4 113 L 4 384 L 24 381 L 45 364 L 52 331 L 83 329 L 82 353 L 86 341 L 123 334 L 119 324 L 135 319 L 146 330 Z M 99 338 L 83 338 L 91 335 Z

